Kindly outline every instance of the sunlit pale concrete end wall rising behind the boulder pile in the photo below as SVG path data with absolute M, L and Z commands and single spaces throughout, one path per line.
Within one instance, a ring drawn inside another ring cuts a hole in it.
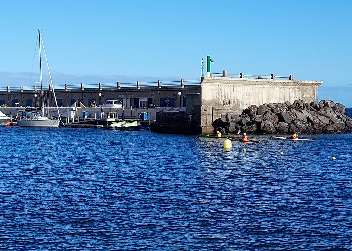
M 271 80 L 229 77 L 205 77 L 201 83 L 202 132 L 211 133 L 211 123 L 225 113 L 240 114 L 251 105 L 293 103 L 317 100 L 322 81 Z

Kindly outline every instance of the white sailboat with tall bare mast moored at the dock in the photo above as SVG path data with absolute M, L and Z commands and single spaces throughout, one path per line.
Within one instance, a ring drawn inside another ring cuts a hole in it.
M 38 111 L 37 108 L 31 108 L 25 110 L 25 116 L 17 121 L 17 125 L 20 127 L 59 127 L 60 124 L 60 112 L 57 106 L 56 95 L 54 91 L 54 85 L 52 83 L 50 69 L 48 60 L 46 58 L 45 48 L 43 39 L 41 38 L 40 30 L 38 30 L 38 38 L 39 38 L 39 67 L 40 67 L 40 86 L 41 86 L 41 111 Z M 42 48 L 45 56 L 46 66 L 48 68 L 49 78 L 50 78 L 50 85 L 52 92 L 54 94 L 55 104 L 57 108 L 57 117 L 48 117 L 45 115 L 45 107 L 44 107 L 44 91 L 43 91 L 43 74 L 42 74 Z

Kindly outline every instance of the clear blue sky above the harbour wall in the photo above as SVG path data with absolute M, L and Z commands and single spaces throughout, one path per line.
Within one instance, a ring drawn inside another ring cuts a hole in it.
M 37 30 L 55 86 L 198 80 L 212 72 L 323 80 L 352 107 L 352 1 L 1 1 L 0 87 L 33 86 Z M 31 79 L 31 80 L 30 80 Z

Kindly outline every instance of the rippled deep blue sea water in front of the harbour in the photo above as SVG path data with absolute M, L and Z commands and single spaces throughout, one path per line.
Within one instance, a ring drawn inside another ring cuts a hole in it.
M 249 137 L 0 128 L 0 249 L 351 250 L 352 134 Z

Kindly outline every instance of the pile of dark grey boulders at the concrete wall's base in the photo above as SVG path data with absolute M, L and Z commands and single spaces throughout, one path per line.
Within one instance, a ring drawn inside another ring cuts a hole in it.
M 214 132 L 253 134 L 337 134 L 352 132 L 346 107 L 332 100 L 251 105 L 241 115 L 225 114 L 212 123 Z

